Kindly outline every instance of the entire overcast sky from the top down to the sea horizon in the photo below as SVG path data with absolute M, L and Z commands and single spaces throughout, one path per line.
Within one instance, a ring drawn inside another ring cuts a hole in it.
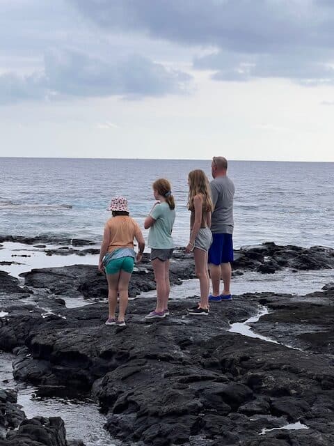
M 0 155 L 334 161 L 333 0 L 0 0 Z

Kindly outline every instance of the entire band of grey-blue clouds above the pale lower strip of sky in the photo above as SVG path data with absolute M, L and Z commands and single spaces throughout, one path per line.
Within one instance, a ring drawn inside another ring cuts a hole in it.
M 216 81 L 334 84 L 332 0 L 4 0 L 2 10 L 2 105 L 183 94 L 191 66 Z

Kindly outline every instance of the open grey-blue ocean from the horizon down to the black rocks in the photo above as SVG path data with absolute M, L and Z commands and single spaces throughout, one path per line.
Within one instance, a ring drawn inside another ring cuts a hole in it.
M 177 203 L 175 244 L 189 237 L 187 175 L 210 160 L 0 158 L 0 234 L 100 242 L 113 195 L 129 200 L 143 226 L 152 183 L 168 178 Z M 265 241 L 334 246 L 334 163 L 230 161 L 236 188 L 234 247 Z M 147 233 L 144 231 L 145 235 Z

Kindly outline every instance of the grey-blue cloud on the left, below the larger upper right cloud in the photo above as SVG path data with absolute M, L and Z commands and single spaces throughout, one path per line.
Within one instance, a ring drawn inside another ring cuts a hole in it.
M 0 75 L 0 103 L 74 97 L 122 95 L 124 98 L 184 93 L 191 76 L 168 70 L 143 56 L 107 62 L 74 50 L 45 54 L 45 68 L 19 77 Z

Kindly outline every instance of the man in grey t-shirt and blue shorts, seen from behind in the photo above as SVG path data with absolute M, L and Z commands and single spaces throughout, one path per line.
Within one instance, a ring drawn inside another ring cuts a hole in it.
M 233 261 L 233 197 L 234 184 L 227 176 L 228 162 L 222 156 L 214 156 L 211 164 L 213 180 L 210 183 L 214 211 L 212 213 L 212 245 L 209 249 L 209 270 L 212 280 L 210 301 L 231 300 L 230 282 Z M 224 282 L 220 293 L 221 279 Z

